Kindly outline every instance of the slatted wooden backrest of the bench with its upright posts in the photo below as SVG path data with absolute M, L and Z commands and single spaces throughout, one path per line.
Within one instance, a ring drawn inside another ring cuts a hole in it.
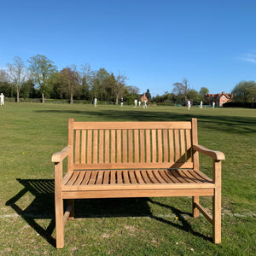
M 197 120 L 74 122 L 68 120 L 73 169 L 193 168 Z

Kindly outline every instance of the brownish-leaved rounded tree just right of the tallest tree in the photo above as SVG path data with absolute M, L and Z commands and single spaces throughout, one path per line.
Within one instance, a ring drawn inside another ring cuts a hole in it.
M 60 72 L 61 84 L 64 92 L 70 97 L 70 103 L 73 104 L 73 96 L 80 92 L 80 77 L 76 66 L 63 68 Z

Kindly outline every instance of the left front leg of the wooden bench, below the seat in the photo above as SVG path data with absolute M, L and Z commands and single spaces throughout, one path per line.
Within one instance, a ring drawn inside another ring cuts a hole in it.
M 63 200 L 55 198 L 56 248 L 64 247 Z

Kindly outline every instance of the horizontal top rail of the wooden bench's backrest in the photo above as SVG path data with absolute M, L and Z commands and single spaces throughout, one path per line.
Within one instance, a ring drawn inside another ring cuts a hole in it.
M 74 122 L 73 129 L 88 130 L 191 129 L 191 122 Z

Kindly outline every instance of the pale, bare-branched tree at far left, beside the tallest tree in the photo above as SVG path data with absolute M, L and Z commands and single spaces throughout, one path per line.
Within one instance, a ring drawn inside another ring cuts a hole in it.
M 8 77 L 11 83 L 15 85 L 17 92 L 17 102 L 20 102 L 20 88 L 21 84 L 23 84 L 26 80 L 26 67 L 24 61 L 20 59 L 20 57 L 15 56 L 14 62 L 12 64 L 7 63 L 8 67 Z

